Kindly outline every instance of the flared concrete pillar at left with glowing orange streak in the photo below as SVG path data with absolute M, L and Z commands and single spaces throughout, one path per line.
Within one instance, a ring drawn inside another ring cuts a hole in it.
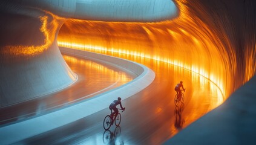
M 57 91 L 76 79 L 57 47 L 64 19 L 22 2 L 0 4 L 0 107 Z

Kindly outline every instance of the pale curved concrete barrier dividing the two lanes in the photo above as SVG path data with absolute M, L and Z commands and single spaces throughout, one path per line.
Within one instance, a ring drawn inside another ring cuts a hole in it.
M 97 58 L 104 62 L 109 61 L 108 63 L 116 62 L 120 67 L 125 67 L 139 76 L 125 85 L 111 91 L 104 92 L 103 94 L 96 95 L 96 97 L 89 98 L 77 103 L 76 105 L 41 115 L 39 117 L 31 118 L 29 120 L 21 121 L 19 123 L 11 124 L 9 126 L 1 127 L 0 144 L 15 143 L 25 138 L 42 134 L 48 130 L 64 126 L 65 124 L 79 120 L 80 118 L 87 117 L 97 111 L 108 108 L 111 101 L 116 100 L 117 97 L 122 97 L 123 100 L 131 97 L 131 95 L 134 95 L 146 88 L 146 86 L 153 82 L 155 78 L 155 74 L 151 69 L 129 60 L 68 48 L 61 48 L 61 50 L 65 51 L 65 53 L 73 54 L 74 56 L 93 57 L 94 59 Z

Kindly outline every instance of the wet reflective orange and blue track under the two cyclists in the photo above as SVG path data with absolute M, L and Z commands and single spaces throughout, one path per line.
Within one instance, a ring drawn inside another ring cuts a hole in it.
M 113 125 L 108 131 L 103 129 L 103 119 L 110 113 L 106 108 L 19 143 L 161 144 L 223 102 L 220 90 L 198 74 L 156 60 L 119 57 L 142 63 L 156 72 L 156 79 L 145 90 L 122 100 L 126 111 L 121 113 L 122 121 L 119 127 Z M 183 80 L 186 88 L 185 101 L 176 106 L 174 86 L 180 80 Z

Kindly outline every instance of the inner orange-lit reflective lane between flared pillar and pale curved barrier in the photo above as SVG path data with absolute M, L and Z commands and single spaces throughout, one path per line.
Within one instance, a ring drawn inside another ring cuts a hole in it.
M 65 54 L 63 57 L 73 72 L 77 74 L 77 81 L 53 94 L 0 108 L 0 126 L 73 105 L 73 103 L 128 83 L 136 77 L 131 72 L 128 74 L 114 65 L 110 66 L 95 62 L 95 60 L 80 59 Z

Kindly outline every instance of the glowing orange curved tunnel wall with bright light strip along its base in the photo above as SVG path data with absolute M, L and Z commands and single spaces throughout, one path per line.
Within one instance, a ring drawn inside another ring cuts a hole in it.
M 232 41 L 238 34 L 233 33 L 235 30 L 229 31 L 232 19 L 225 8 L 216 13 L 214 8 L 209 9 L 211 4 L 203 5 L 199 1 L 177 1 L 177 6 L 179 17 L 164 22 L 68 19 L 59 31 L 58 44 L 109 55 L 111 52 L 125 53 L 178 65 L 208 78 L 220 88 L 225 98 L 228 97 L 255 74 L 255 40 L 242 46 Z M 255 28 L 252 33 L 254 31 Z M 253 37 L 252 34 L 248 39 Z

